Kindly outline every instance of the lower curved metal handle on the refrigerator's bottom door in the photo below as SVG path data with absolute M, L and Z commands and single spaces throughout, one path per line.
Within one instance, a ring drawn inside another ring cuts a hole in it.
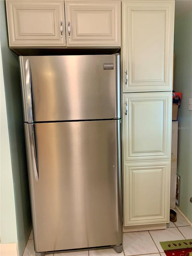
M 34 134 L 34 127 L 33 124 L 29 124 L 29 143 L 31 149 L 31 161 L 33 167 L 33 173 L 35 176 L 35 180 L 39 180 L 39 172 L 38 172 L 38 158 L 37 158 L 37 151 L 35 147 L 35 134 Z

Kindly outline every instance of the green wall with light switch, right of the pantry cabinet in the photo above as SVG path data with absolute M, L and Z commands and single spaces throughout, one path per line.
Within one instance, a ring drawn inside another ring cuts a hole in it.
M 192 111 L 188 110 L 188 98 L 192 98 L 192 1 L 176 1 L 175 20 L 175 73 L 174 89 L 182 92 L 178 113 L 178 165 L 181 175 L 179 209 L 192 222 Z

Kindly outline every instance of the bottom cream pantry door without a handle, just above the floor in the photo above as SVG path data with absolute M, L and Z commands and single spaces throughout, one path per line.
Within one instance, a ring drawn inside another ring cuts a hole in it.
M 124 164 L 124 226 L 169 222 L 170 161 Z

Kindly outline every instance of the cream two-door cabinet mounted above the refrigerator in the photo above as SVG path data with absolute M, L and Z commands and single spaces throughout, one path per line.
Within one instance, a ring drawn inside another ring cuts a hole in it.
M 6 9 L 10 48 L 121 47 L 120 0 L 6 0 Z

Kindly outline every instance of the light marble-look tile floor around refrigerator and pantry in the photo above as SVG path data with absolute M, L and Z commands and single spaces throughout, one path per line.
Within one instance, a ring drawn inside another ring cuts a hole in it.
M 180 239 L 192 239 L 192 227 L 178 212 L 177 222 L 167 224 L 167 229 L 123 233 L 123 251 L 119 254 L 110 248 L 62 252 L 46 254 L 46 256 L 166 256 L 159 242 Z M 23 256 L 35 256 L 32 233 Z

